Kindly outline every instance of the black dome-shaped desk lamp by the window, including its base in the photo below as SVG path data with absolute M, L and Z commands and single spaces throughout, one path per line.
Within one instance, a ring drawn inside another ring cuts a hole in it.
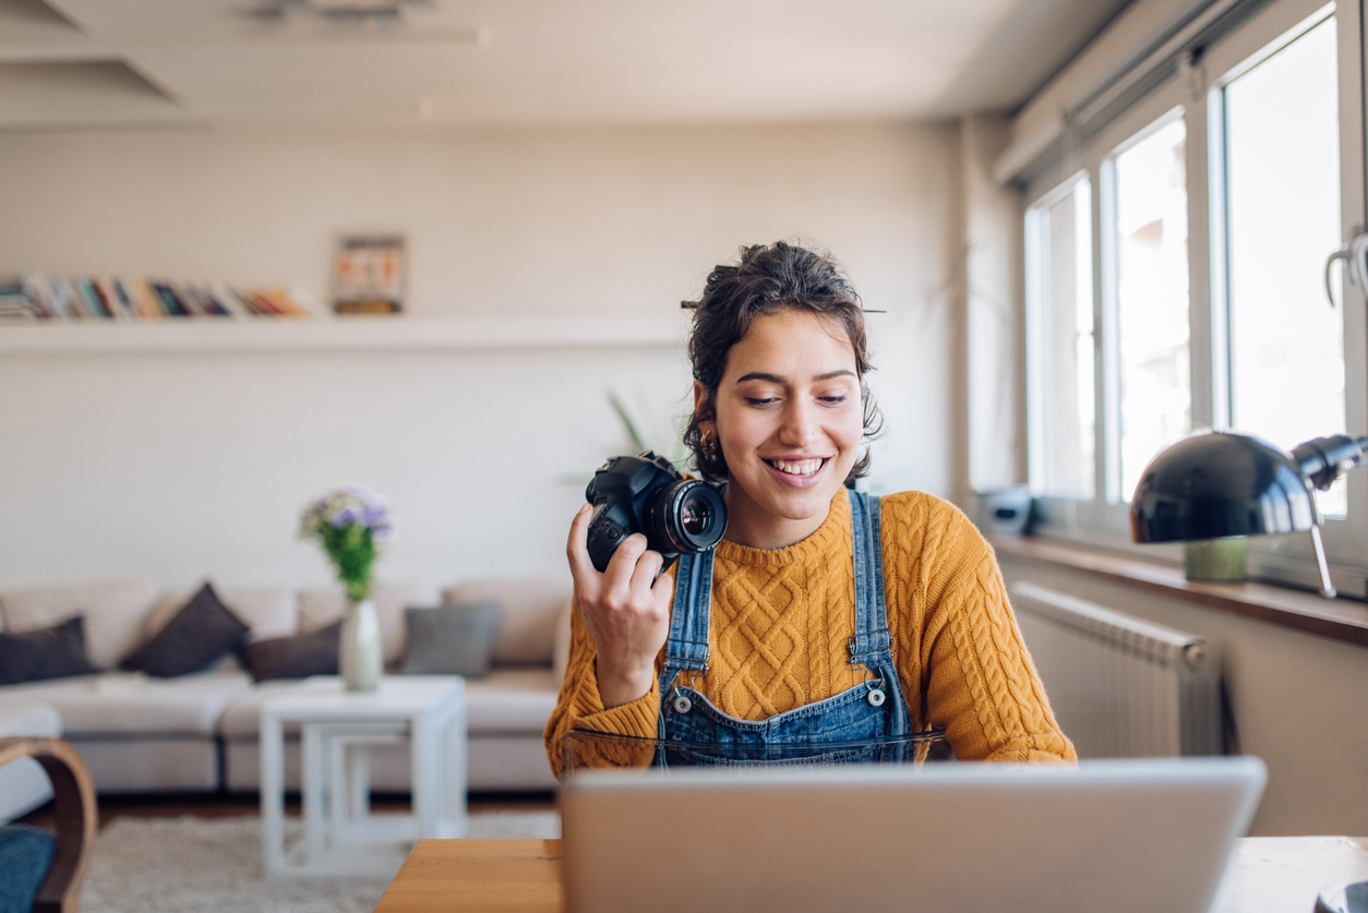
M 1368 438 L 1334 435 L 1293 448 L 1231 431 L 1201 431 L 1149 461 L 1130 501 L 1135 542 L 1311 532 L 1320 593 L 1334 598 L 1313 489 L 1368 464 Z M 1326 888 L 1315 913 L 1368 913 L 1368 882 Z

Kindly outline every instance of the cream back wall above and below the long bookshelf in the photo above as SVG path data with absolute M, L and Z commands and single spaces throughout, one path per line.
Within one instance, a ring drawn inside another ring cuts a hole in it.
M 0 278 L 148 274 L 326 294 L 335 238 L 402 231 L 410 311 L 676 312 L 741 242 L 804 234 L 870 308 L 874 490 L 948 494 L 949 127 L 0 134 Z M 3 329 L 0 329 L 3 331 Z M 387 494 L 390 579 L 558 572 L 583 483 L 668 424 L 677 348 L 0 360 L 0 587 L 321 583 L 298 506 Z

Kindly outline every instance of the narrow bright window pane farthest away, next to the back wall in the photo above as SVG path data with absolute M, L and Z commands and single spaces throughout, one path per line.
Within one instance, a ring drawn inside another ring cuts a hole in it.
M 1033 208 L 1030 263 L 1030 480 L 1036 494 L 1092 498 L 1092 185 Z

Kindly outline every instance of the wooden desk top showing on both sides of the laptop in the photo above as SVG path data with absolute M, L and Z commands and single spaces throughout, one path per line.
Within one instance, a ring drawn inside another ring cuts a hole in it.
M 1368 838 L 1254 836 L 1212 913 L 1311 913 L 1330 884 L 1368 880 Z M 561 913 L 560 840 L 419 840 L 376 913 Z

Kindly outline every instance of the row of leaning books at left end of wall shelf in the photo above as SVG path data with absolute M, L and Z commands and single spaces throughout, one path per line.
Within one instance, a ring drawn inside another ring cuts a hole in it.
M 330 316 L 294 286 L 234 286 L 145 277 L 51 277 L 36 270 L 0 285 L 0 320 L 317 319 Z

